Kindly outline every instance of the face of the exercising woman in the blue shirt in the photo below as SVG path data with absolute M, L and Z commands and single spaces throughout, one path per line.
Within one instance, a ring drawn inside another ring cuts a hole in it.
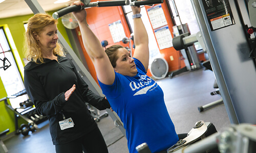
M 115 71 L 122 75 L 134 77 L 137 74 L 137 68 L 128 50 L 119 48 L 117 52 L 118 59 L 116 61 L 116 67 L 114 68 Z

